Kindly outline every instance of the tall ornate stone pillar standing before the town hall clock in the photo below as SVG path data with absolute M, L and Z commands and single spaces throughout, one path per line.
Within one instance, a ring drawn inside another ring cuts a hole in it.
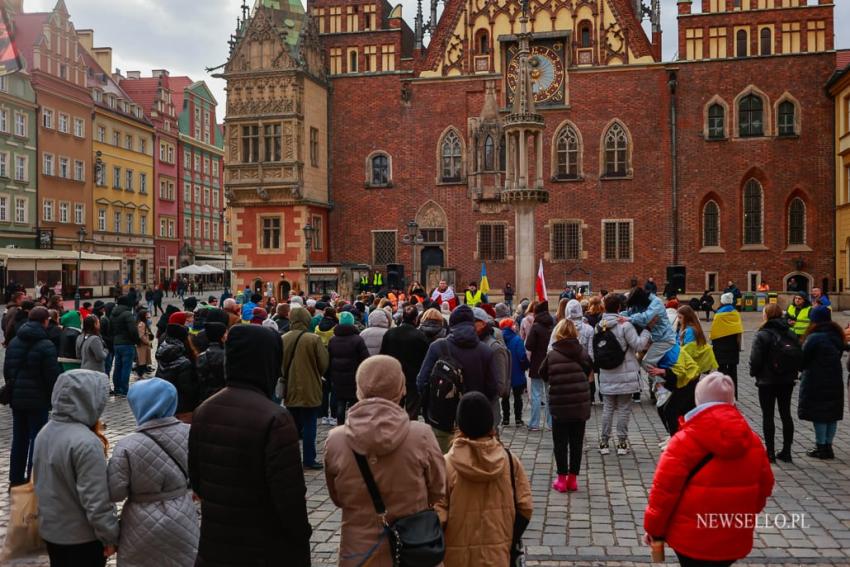
M 502 202 L 513 207 L 516 214 L 515 264 L 516 293 L 519 297 L 533 297 L 536 264 L 536 226 L 534 209 L 549 201 L 549 193 L 543 188 L 543 116 L 534 108 L 534 93 L 531 90 L 531 62 L 529 61 L 528 0 L 522 2 L 520 16 L 519 67 L 513 108 L 505 117 L 504 128 L 507 138 L 507 164 L 505 167 L 505 190 Z M 534 180 L 530 180 L 528 163 L 529 142 L 534 143 Z

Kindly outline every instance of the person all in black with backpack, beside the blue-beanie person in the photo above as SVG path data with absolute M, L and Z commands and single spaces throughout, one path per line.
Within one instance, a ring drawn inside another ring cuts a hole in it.
M 798 378 L 797 368 L 775 369 L 773 361 L 778 360 L 779 341 L 796 345 L 798 337 L 788 327 L 782 308 L 770 303 L 764 308 L 764 324 L 756 334 L 753 349 L 750 351 L 750 376 L 756 379 L 759 389 L 759 405 L 762 412 L 764 444 L 770 462 L 776 459 L 791 462 L 791 444 L 794 442 L 794 419 L 791 417 L 791 395 Z M 773 410 L 779 405 L 779 417 L 782 419 L 782 451 L 775 453 Z

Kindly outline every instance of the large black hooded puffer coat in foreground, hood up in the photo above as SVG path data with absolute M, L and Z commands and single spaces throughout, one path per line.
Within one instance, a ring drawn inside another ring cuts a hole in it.
M 319 340 L 302 342 L 308 337 Z M 195 565 L 310 565 L 298 431 L 271 401 L 280 335 L 236 325 L 225 348 L 227 386 L 195 410 L 189 431 L 189 476 L 204 519 Z

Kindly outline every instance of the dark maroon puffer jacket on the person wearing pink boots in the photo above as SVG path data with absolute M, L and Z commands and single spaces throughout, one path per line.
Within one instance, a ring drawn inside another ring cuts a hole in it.
M 590 419 L 590 382 L 593 371 L 584 347 L 577 339 L 563 339 L 540 365 L 540 377 L 549 383 L 549 411 L 559 421 Z

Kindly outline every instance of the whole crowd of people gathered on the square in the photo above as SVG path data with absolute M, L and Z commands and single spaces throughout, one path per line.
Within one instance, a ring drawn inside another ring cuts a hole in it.
M 512 309 L 477 289 L 461 303 L 446 282 L 279 304 L 246 288 L 186 297 L 156 322 L 145 294 L 65 311 L 61 298 L 41 306 L 15 293 L 0 393 L 13 416 L 10 486 L 34 482 L 57 567 L 116 552 L 128 567 L 273 564 L 282 553 L 309 565 L 305 471 L 324 471 L 342 510 L 340 565 L 393 565 L 416 545 L 398 526 L 429 521 L 440 541 L 419 552 L 439 555 L 434 565 L 508 565 L 534 512 L 523 464 L 501 442 L 511 413 L 515 427 L 551 430 L 552 489 L 575 492 L 597 397 L 599 453 L 624 456 L 634 400 L 648 391 L 668 437 L 645 541 L 665 541 L 685 566 L 730 565 L 752 530 L 706 535 L 696 516 L 709 503 L 763 509 L 771 464 L 792 461 L 798 380 L 798 418 L 817 439 L 808 456 L 834 458 L 848 337 L 824 296 L 812 306 L 802 295 L 787 311 L 766 306 L 750 353 L 762 440 L 735 407 L 743 325 L 732 292 L 707 334 L 698 310 L 650 286 L 565 296 L 554 315 L 548 301 Z M 126 397 L 138 425 L 111 453 L 110 395 Z M 332 427 L 323 450 L 319 425 Z

